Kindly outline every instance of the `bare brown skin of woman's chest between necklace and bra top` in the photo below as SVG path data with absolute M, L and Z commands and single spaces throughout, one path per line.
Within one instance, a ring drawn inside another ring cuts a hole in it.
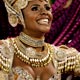
M 40 80 L 48 80 L 50 77 L 54 76 L 55 73 L 54 66 L 51 62 L 44 67 L 31 67 L 14 56 L 13 67 L 17 66 L 22 67 L 24 71 L 28 71 L 34 78 L 40 77 Z

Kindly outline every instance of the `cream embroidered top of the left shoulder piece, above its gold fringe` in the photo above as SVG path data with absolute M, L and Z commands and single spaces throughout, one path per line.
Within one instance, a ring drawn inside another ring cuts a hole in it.
M 9 58 L 14 51 L 13 45 L 10 39 L 0 40 L 0 53 Z

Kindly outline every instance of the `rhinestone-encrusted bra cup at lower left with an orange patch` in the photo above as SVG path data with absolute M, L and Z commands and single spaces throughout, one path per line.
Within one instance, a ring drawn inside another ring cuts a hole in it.
M 34 80 L 33 76 L 20 66 L 12 68 L 12 74 L 9 76 L 10 80 Z

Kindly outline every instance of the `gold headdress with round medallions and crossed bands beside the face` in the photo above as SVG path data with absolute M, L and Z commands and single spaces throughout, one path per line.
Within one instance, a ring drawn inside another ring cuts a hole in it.
M 3 0 L 8 12 L 8 20 L 12 27 L 22 24 L 25 27 L 21 9 L 25 8 L 31 0 Z

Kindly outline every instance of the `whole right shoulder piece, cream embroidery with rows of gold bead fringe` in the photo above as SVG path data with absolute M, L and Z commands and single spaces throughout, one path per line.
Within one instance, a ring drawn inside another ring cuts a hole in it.
M 75 48 L 65 45 L 53 46 L 53 48 L 53 65 L 58 73 L 72 71 L 77 67 L 80 53 Z

